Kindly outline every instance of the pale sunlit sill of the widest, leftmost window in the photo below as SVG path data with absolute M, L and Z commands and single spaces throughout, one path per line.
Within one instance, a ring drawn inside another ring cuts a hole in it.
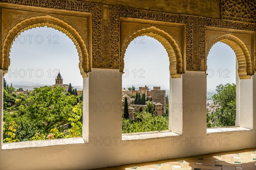
M 38 140 L 38 141 L 23 141 L 23 142 L 11 142 L 3 143 L 2 150 L 9 149 L 21 149 L 29 147 L 46 147 L 46 146 L 56 146 L 63 144 L 83 144 L 84 139 L 82 137 L 78 138 L 67 138 L 67 139 L 51 139 L 51 140 Z

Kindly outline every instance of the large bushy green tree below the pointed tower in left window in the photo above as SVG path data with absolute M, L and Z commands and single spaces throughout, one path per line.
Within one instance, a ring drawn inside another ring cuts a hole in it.
M 37 120 L 38 126 L 48 131 L 59 122 L 66 123 L 76 98 L 73 95 L 66 96 L 63 92 L 64 88 L 61 87 L 35 88 L 19 106 L 20 115 Z

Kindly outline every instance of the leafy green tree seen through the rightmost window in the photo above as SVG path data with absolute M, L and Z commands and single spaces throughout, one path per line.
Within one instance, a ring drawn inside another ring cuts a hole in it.
M 207 126 L 234 126 L 236 123 L 236 85 L 227 83 L 216 87 L 212 96 L 215 105 L 220 107 L 215 113 L 208 113 Z M 212 124 L 212 125 L 210 125 Z

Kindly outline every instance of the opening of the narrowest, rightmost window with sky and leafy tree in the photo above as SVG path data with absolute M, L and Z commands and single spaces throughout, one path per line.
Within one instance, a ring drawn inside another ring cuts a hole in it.
M 220 62 L 221 61 L 221 62 Z M 236 54 L 223 42 L 207 56 L 207 127 L 236 125 Z

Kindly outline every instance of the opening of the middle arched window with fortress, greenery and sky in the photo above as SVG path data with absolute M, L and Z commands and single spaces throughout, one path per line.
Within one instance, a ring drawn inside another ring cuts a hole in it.
M 122 75 L 123 133 L 169 130 L 169 102 L 166 96 L 170 93 L 170 71 L 169 57 L 164 46 L 146 35 L 136 37 L 126 49 L 124 64 Z M 159 86 L 162 91 L 158 91 Z M 128 117 L 125 119 L 125 96 L 128 101 L 126 104 L 128 110 L 134 109 L 132 113 L 134 116 L 130 115 L 129 121 Z M 149 100 L 151 97 L 152 101 Z M 156 105 L 158 102 L 162 102 L 163 105 L 161 113 Z M 159 118 L 157 118 L 158 115 Z M 154 119 L 161 121 L 158 122 L 159 125 L 152 124 Z

